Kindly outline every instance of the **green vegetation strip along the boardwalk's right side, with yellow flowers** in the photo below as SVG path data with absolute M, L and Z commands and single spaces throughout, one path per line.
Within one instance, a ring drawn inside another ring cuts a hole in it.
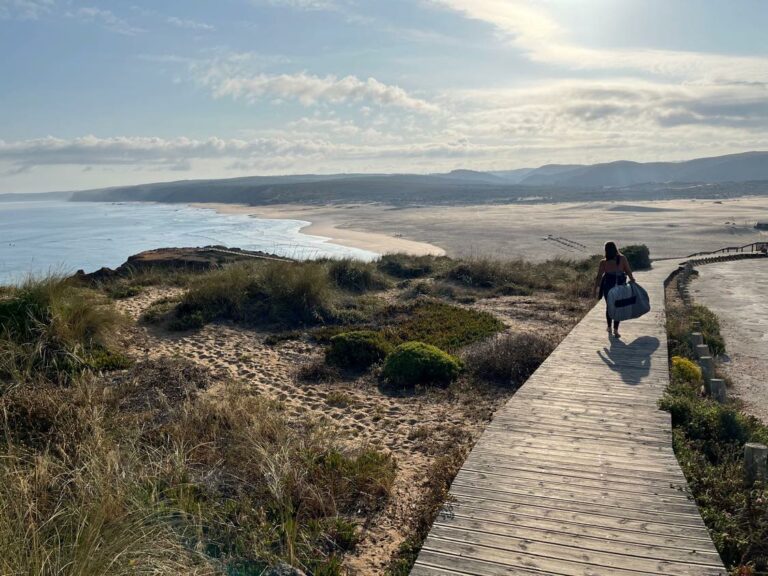
M 768 486 L 749 485 L 744 444 L 768 443 L 768 426 L 732 401 L 703 395 L 701 370 L 688 341 L 695 320 L 705 339 L 724 348 L 717 319 L 702 306 L 688 306 L 668 289 L 667 326 L 671 383 L 661 407 L 672 415 L 675 453 L 720 556 L 734 574 L 768 573 Z M 717 348 L 715 348 L 717 349 Z

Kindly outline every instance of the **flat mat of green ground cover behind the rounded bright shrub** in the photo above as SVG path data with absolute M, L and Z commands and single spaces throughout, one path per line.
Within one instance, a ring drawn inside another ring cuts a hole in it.
M 403 320 L 389 327 L 396 340 L 425 342 L 448 351 L 504 329 L 504 324 L 493 314 L 444 302 L 417 302 L 404 311 Z

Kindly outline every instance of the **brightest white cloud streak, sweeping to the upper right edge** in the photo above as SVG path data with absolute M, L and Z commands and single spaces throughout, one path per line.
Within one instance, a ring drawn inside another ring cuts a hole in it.
M 432 0 L 486 22 L 531 60 L 573 70 L 635 70 L 688 82 L 768 82 L 768 58 L 653 49 L 594 49 L 567 39 L 541 5 L 522 0 Z

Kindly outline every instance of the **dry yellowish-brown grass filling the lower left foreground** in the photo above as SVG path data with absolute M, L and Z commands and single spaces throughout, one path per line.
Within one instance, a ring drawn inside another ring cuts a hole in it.
M 393 459 L 234 383 L 201 394 L 202 369 L 164 362 L 0 396 L 0 572 L 340 574 Z

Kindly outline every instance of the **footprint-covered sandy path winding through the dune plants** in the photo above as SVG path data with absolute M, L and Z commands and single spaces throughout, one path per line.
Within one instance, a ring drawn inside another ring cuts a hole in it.
M 136 319 L 152 302 L 178 293 L 174 288 L 150 288 L 118 301 L 117 306 Z M 543 313 L 548 314 L 552 303 L 543 306 Z M 512 316 L 505 323 L 527 325 L 524 319 Z M 534 324 L 540 328 L 540 321 L 534 320 Z M 566 324 L 560 330 L 566 331 Z M 137 324 L 125 336 L 125 347 L 138 357 L 182 356 L 201 363 L 218 375 L 246 382 L 259 393 L 280 400 L 291 419 L 325 419 L 334 423 L 344 441 L 392 453 L 398 463 L 393 497 L 377 517 L 368 519 L 370 525 L 355 554 L 345 560 L 350 574 L 382 574 L 408 533 L 431 465 L 455 445 L 474 443 L 511 393 L 451 389 L 392 397 L 382 394 L 371 377 L 304 384 L 296 380 L 296 368 L 321 358 L 321 347 L 306 339 L 270 346 L 264 343 L 267 335 L 230 324 L 207 325 L 186 333 Z M 211 393 L 216 393 L 215 387 Z

